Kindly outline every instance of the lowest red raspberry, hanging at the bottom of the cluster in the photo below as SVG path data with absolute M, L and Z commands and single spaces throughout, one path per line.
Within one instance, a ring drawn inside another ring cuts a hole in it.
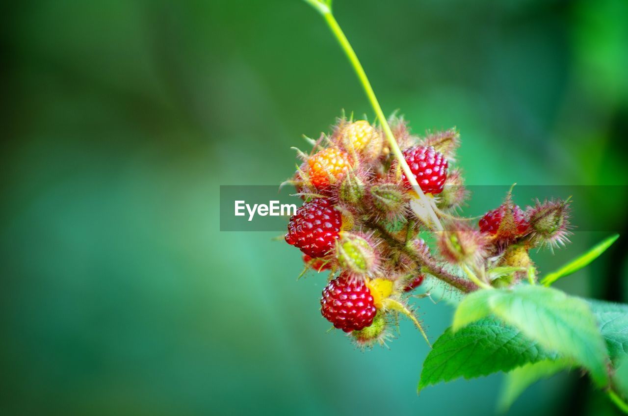
M 323 289 L 320 306 L 323 317 L 345 332 L 370 326 L 377 312 L 371 290 L 362 280 L 350 282 L 345 273 Z

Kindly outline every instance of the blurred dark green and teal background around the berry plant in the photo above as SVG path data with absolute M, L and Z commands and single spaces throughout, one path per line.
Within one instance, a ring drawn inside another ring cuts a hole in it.
M 335 2 L 384 111 L 457 126 L 475 185 L 590 185 L 628 236 L 625 0 Z M 425 342 L 361 353 L 318 312 L 322 276 L 276 233 L 221 233 L 219 185 L 273 185 L 290 146 L 372 111 L 298 0 L 1 6 L 0 413 L 494 413 L 502 375 L 416 395 Z M 566 195 L 560 195 L 566 196 Z M 472 200 L 474 212 L 499 201 Z M 517 200 L 526 204 L 528 200 Z M 549 271 L 608 232 L 539 253 Z M 625 237 L 560 282 L 627 300 Z M 418 301 L 432 339 L 444 302 Z M 597 407 L 597 410 L 592 410 Z M 512 415 L 615 410 L 577 372 Z

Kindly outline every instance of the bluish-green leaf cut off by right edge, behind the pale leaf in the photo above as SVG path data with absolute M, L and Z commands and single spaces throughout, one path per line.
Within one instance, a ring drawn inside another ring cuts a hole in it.
M 615 366 L 628 359 L 628 305 L 588 300 Z

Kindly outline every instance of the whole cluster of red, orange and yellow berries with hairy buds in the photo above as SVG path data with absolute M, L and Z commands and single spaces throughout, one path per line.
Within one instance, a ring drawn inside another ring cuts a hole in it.
M 380 128 L 343 118 L 332 134 L 309 140 L 309 153 L 298 151 L 302 163 L 286 181 L 303 199 L 286 242 L 303 252 L 306 268 L 330 271 L 321 313 L 362 347 L 383 343 L 399 313 L 425 336 L 408 305 L 423 282 L 462 293 L 515 285 L 536 278 L 531 248 L 557 247 L 569 234 L 568 201 L 523 210 L 511 192 L 474 226 L 458 216 L 469 196 L 453 167 L 458 132 L 421 138 L 403 119 L 389 123 L 405 163 Z

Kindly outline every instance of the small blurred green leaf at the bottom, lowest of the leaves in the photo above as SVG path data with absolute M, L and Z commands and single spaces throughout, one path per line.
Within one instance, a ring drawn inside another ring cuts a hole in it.
M 566 359 L 555 361 L 545 359 L 512 370 L 504 380 L 504 387 L 497 408 L 500 412 L 506 412 L 528 386 L 541 380 L 541 378 L 547 378 L 563 371 L 563 369 L 569 369 L 571 365 L 572 363 Z

